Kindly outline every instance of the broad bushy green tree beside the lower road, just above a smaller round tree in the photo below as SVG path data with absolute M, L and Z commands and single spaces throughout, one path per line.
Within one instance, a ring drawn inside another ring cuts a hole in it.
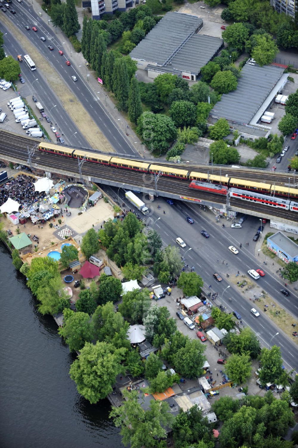
M 223 343 L 230 353 L 249 354 L 253 359 L 257 358 L 261 351 L 259 340 L 249 327 L 243 328 L 240 334 L 228 333 Z

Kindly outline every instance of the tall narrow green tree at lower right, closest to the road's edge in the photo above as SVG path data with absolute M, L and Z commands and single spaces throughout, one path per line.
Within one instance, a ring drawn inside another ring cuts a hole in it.
M 261 370 L 259 379 L 262 384 L 278 383 L 283 373 L 281 348 L 273 345 L 272 349 L 262 349 L 260 355 Z

